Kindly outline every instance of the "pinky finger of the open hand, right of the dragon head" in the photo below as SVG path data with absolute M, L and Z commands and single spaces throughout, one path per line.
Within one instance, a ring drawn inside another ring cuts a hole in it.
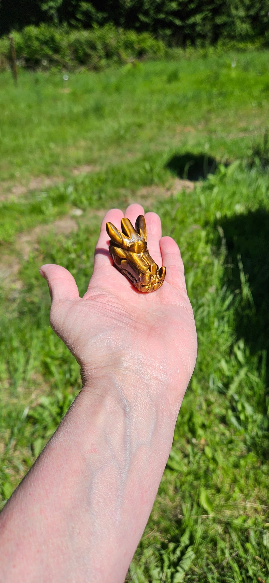
M 178 245 L 172 237 L 162 237 L 160 239 L 160 249 L 162 265 L 167 268 L 165 281 L 178 289 L 186 291 L 184 265 Z

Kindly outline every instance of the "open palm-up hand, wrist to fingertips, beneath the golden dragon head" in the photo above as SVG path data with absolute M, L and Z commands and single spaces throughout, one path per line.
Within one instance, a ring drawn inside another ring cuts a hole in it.
M 132 204 L 125 217 L 134 224 L 141 214 L 143 208 Z M 137 388 L 150 384 L 156 398 L 168 399 L 178 413 L 197 352 L 180 251 L 171 237 L 161 237 L 160 217 L 147 213 L 148 250 L 158 266 L 166 266 L 167 275 L 157 291 L 137 291 L 115 269 L 108 253 L 105 225 L 112 222 L 121 230 L 122 217 L 121 210 L 112 209 L 102 221 L 93 276 L 83 298 L 65 268 L 41 268 L 52 297 L 51 325 L 82 367 L 84 388 L 93 376 L 111 371 L 127 385 L 134 375 Z

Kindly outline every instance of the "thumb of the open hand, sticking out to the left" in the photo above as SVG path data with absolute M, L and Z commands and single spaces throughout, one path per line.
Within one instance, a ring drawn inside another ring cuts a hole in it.
M 43 265 L 39 272 L 44 279 L 47 279 L 52 301 L 79 298 L 79 290 L 73 275 L 61 265 L 48 263 Z

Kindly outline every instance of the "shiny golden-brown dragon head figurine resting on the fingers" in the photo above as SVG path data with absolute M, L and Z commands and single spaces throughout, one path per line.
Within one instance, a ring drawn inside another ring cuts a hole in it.
M 154 291 L 161 287 L 165 267 L 158 267 L 147 249 L 147 229 L 143 215 L 136 219 L 135 229 L 129 219 L 121 219 L 122 233 L 114 224 L 107 223 L 110 237 L 109 254 L 115 267 L 139 291 Z

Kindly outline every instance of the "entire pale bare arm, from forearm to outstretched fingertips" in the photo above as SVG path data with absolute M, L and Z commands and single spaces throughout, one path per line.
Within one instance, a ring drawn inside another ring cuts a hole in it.
M 130 205 L 134 224 L 144 214 Z M 123 583 L 164 472 L 197 353 L 183 262 L 161 221 L 146 214 L 147 241 L 167 267 L 143 294 L 108 255 L 101 225 L 94 271 L 79 297 L 62 266 L 43 265 L 52 328 L 76 357 L 83 387 L 0 515 L 1 583 Z

